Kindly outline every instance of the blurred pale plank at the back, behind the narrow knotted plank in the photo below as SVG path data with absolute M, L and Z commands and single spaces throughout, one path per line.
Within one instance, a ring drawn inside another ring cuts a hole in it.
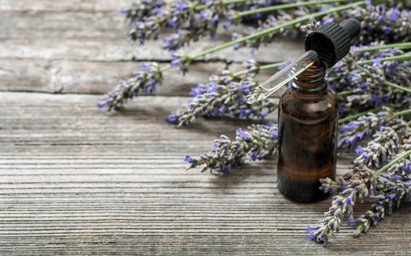
M 162 49 L 162 41 L 149 41 L 144 47 L 127 42 L 128 25 L 120 14 L 114 13 L 45 13 L 2 14 L 0 27 L 0 58 L 36 60 L 82 60 L 82 61 L 130 61 L 162 60 L 171 56 Z M 229 31 L 219 29 L 217 40 L 204 38 L 186 48 L 190 54 L 229 41 L 232 31 L 245 26 L 232 27 Z M 168 34 L 162 34 L 167 36 Z M 269 47 L 256 51 L 253 58 L 259 62 L 275 62 L 294 59 L 303 52 L 301 40 L 273 42 Z M 206 56 L 206 60 L 242 62 L 248 49 L 234 51 L 231 47 Z M 251 56 L 250 56 L 251 57 Z M 199 59 L 199 60 L 204 60 Z

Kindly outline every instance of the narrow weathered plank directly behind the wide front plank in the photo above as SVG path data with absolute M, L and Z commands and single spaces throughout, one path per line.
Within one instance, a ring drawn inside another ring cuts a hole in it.
M 139 62 L 0 60 L 0 90 L 105 94 L 120 79 L 132 77 L 133 71 L 140 70 L 139 65 Z M 233 72 L 244 69 L 241 64 L 193 62 L 185 76 L 175 71 L 164 72 L 164 81 L 156 94 L 188 96 L 192 87 L 207 83 L 210 75 L 218 74 L 226 66 Z M 275 71 L 262 71 L 258 79 L 264 81 Z

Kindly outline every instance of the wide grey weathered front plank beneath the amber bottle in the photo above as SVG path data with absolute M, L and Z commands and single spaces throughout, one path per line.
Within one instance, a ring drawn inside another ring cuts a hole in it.
M 345 227 L 322 248 L 304 231 L 331 199 L 284 199 L 275 159 L 223 176 L 185 169 L 184 155 L 252 120 L 176 129 L 164 115 L 185 97 L 140 97 L 113 113 L 99 99 L 0 92 L 0 255 L 411 253 L 411 205 L 358 239 Z M 339 175 L 351 157 L 338 160 Z

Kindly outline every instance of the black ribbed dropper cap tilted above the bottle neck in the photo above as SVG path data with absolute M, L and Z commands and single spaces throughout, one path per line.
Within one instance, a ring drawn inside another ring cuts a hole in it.
M 361 25 L 354 18 L 342 23 L 327 23 L 306 37 L 306 51 L 319 53 L 326 68 L 331 68 L 351 49 L 351 40 L 360 35 Z

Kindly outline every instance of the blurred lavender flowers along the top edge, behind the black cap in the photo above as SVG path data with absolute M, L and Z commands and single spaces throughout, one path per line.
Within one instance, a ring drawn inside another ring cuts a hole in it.
M 334 12 L 326 12 L 335 5 L 349 5 Z M 232 34 L 234 39 L 251 36 L 265 29 L 284 25 L 295 20 L 303 21 L 306 16 L 322 16 L 319 23 L 335 21 L 340 23 L 345 18 L 356 18 L 362 23 L 363 34 L 358 43 L 368 44 L 375 40 L 398 42 L 410 39 L 411 15 L 407 1 L 357 1 L 349 0 L 319 0 L 319 1 L 184 1 L 177 0 L 171 5 L 162 1 L 143 0 L 121 8 L 120 12 L 132 24 L 129 37 L 133 41 L 144 44 L 145 40 L 157 39 L 160 30 L 165 27 L 175 29 L 175 33 L 164 38 L 164 48 L 177 50 L 190 41 L 199 40 L 203 36 L 215 38 L 216 29 L 223 21 L 223 27 L 236 25 L 240 21 L 251 21 L 244 34 Z M 290 27 L 282 27 L 269 34 L 249 38 L 236 44 L 235 48 L 251 47 L 258 49 L 261 43 L 272 42 L 278 35 L 305 36 L 306 28 L 299 23 Z

